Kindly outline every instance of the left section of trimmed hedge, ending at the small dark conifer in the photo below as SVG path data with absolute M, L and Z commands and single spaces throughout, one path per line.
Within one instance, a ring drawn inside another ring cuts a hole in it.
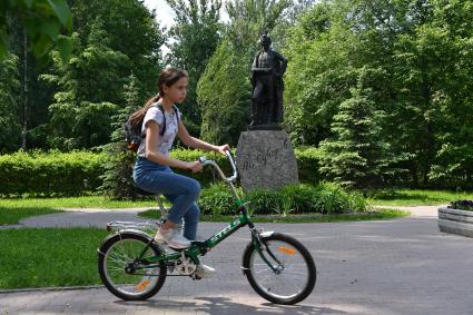
M 87 152 L 24 152 L 0 156 L 0 195 L 77 196 L 100 186 L 105 156 Z

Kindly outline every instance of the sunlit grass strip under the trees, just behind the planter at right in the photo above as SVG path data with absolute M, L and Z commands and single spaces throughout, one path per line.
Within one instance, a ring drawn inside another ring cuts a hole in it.
M 454 200 L 473 199 L 473 193 L 446 190 L 398 189 L 375 197 L 371 203 L 380 206 L 423 206 L 449 204 Z

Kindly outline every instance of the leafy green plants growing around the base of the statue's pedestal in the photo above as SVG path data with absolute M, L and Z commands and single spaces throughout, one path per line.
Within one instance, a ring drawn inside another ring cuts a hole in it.
M 238 195 L 243 196 L 238 188 Z M 343 214 L 369 209 L 366 199 L 358 193 L 347 193 L 337 185 L 321 183 L 288 185 L 278 190 L 253 190 L 243 197 L 250 201 L 248 208 L 256 215 L 288 214 Z M 198 199 L 203 214 L 231 215 L 237 206 L 228 185 L 215 184 L 203 189 Z

